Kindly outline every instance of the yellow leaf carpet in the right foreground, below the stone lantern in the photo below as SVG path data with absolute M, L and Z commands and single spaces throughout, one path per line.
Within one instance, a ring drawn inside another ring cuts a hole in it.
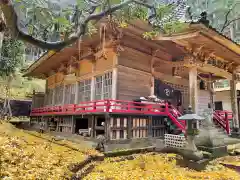
M 221 158 L 211 162 L 203 172 L 180 168 L 176 165 L 174 154 L 144 154 L 136 155 L 134 160 L 113 162 L 119 158 L 107 158 L 97 165 L 93 172 L 85 177 L 86 180 L 239 180 L 240 175 L 228 168 L 218 165 L 230 158 Z M 232 161 L 239 161 L 240 157 L 232 157 Z

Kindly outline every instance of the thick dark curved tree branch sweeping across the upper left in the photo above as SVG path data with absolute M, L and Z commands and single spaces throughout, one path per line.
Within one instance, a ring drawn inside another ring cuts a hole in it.
M 20 40 L 23 40 L 30 44 L 38 46 L 42 49 L 60 50 L 64 47 L 74 43 L 75 41 L 77 41 L 80 36 L 83 36 L 86 32 L 86 26 L 87 26 L 88 22 L 90 22 L 92 20 L 99 21 L 104 16 L 110 15 L 113 12 L 115 12 L 131 3 L 139 4 L 139 5 L 145 6 L 147 8 L 153 8 L 152 5 L 144 3 L 143 1 L 140 1 L 140 0 L 126 0 L 120 4 L 111 6 L 110 8 L 108 8 L 105 11 L 88 16 L 84 20 L 84 22 L 79 25 L 78 31 L 75 35 L 72 35 L 69 39 L 67 39 L 65 41 L 59 41 L 59 42 L 47 42 L 47 41 L 44 41 L 41 39 L 34 38 L 31 35 L 21 31 L 18 27 L 18 17 L 17 17 L 17 14 L 15 12 L 12 2 L 8 1 L 8 3 L 5 3 L 3 0 L 1 0 L 0 6 L 1 6 L 1 9 L 5 16 L 7 27 L 11 30 L 11 33 L 13 36 L 17 37 Z

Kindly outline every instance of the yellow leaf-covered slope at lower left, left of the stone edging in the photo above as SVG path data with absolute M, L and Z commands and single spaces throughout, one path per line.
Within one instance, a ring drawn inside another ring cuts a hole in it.
M 75 148 L 80 146 L 67 141 L 65 143 Z M 97 152 L 79 152 L 30 135 L 10 124 L 0 124 L 0 179 L 66 179 L 72 174 L 68 166 L 83 161 L 90 153 Z

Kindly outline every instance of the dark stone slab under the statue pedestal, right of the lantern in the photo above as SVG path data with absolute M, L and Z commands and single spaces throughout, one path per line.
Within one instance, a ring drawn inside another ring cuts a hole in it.
M 228 154 L 226 145 L 218 147 L 198 146 L 198 149 L 210 152 L 212 154 L 212 157 L 221 157 Z

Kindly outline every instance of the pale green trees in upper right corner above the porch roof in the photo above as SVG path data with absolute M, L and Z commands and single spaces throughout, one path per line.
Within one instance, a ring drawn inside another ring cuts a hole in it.
M 212 27 L 234 41 L 240 40 L 240 0 L 187 0 L 187 5 L 190 20 L 205 11 Z

